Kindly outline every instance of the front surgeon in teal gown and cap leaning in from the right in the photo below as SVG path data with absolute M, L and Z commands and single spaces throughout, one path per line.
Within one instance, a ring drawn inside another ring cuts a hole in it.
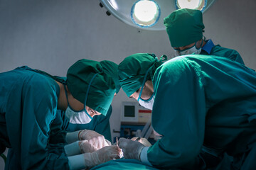
M 127 159 L 164 169 L 207 169 L 204 146 L 234 157 L 227 169 L 255 169 L 256 72 L 209 55 L 183 55 L 155 67 L 154 55 L 134 54 L 119 64 L 127 96 L 154 95 L 151 123 L 161 135 L 151 147 L 119 139 Z

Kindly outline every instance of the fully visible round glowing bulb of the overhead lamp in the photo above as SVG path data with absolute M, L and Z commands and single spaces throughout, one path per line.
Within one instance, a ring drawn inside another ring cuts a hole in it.
M 155 1 L 141 0 L 132 6 L 132 21 L 140 27 L 153 26 L 159 20 L 159 16 L 160 8 Z

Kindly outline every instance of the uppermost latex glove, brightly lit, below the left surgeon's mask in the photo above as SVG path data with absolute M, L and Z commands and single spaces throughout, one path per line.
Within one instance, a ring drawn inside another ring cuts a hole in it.
M 90 145 L 96 149 L 101 149 L 102 147 L 110 146 L 103 135 L 93 131 L 93 130 L 81 130 L 78 133 L 79 140 L 87 140 Z

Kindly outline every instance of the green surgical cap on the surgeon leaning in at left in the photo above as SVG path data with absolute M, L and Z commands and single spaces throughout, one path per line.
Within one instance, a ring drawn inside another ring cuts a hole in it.
M 85 59 L 78 60 L 68 69 L 67 86 L 74 98 L 102 115 L 107 114 L 116 91 L 113 79 L 105 73 L 100 62 Z

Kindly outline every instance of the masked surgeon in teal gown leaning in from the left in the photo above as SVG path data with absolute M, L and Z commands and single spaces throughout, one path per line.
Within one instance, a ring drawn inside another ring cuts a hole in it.
M 58 110 L 70 123 L 80 124 L 107 114 L 116 88 L 100 62 L 75 62 L 66 80 L 29 67 L 1 73 L 0 80 L 0 151 L 11 148 L 6 169 L 85 169 L 119 157 L 118 147 L 105 140 L 96 143 L 102 149 L 82 154 L 75 153 L 81 148 L 74 143 L 52 140 L 58 134 L 53 125 Z M 92 142 L 95 134 L 85 131 L 79 137 Z

